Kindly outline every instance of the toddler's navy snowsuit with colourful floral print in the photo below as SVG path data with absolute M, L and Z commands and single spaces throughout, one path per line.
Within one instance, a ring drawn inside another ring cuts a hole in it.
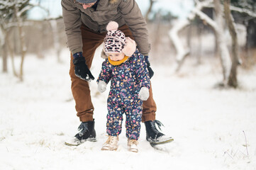
M 135 53 L 120 65 L 112 65 L 106 59 L 102 63 L 99 81 L 111 80 L 108 95 L 106 132 L 117 136 L 122 130 L 123 113 L 126 113 L 126 137 L 138 140 L 143 101 L 138 98 L 142 86 L 150 89 L 150 77 L 143 55 Z

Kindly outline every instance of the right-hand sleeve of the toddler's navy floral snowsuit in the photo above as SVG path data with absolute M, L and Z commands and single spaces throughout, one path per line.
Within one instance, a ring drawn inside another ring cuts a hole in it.
M 145 62 L 143 55 L 141 55 L 139 52 L 135 53 L 135 55 L 138 55 L 136 75 L 138 81 L 140 82 L 140 86 L 145 86 L 150 89 L 150 74 L 148 72 L 147 63 Z

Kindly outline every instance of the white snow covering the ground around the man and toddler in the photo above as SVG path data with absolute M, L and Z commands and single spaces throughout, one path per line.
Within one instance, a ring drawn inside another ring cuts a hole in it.
M 103 61 L 100 52 L 91 68 L 94 77 Z M 79 119 L 68 50 L 62 50 L 61 59 L 57 63 L 52 52 L 45 59 L 28 55 L 23 82 L 11 71 L 0 74 L 0 169 L 255 169 L 256 67 L 238 69 L 239 89 L 221 90 L 213 88 L 222 79 L 216 58 L 205 57 L 196 67 L 188 58 L 179 74 L 169 72 L 174 62 L 152 62 L 157 120 L 174 142 L 152 148 L 142 124 L 138 153 L 128 152 L 124 128 L 118 151 L 103 152 L 109 84 L 99 94 L 96 81 L 90 83 L 97 142 L 64 145 L 77 132 Z

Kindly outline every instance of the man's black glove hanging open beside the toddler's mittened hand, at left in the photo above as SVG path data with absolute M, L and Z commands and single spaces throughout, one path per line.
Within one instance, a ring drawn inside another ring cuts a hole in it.
M 85 59 L 82 55 L 82 52 L 77 52 L 73 55 L 74 60 L 74 74 L 80 79 L 91 81 L 94 80 L 94 76 L 91 74 L 87 64 L 85 64 Z

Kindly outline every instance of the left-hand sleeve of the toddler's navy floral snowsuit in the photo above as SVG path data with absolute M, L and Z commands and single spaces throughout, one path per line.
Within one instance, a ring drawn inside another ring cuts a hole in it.
M 110 79 L 111 79 L 111 64 L 109 64 L 108 60 L 106 59 L 102 63 L 101 73 L 99 74 L 97 83 L 99 83 L 99 81 L 105 81 L 105 83 L 108 84 Z

